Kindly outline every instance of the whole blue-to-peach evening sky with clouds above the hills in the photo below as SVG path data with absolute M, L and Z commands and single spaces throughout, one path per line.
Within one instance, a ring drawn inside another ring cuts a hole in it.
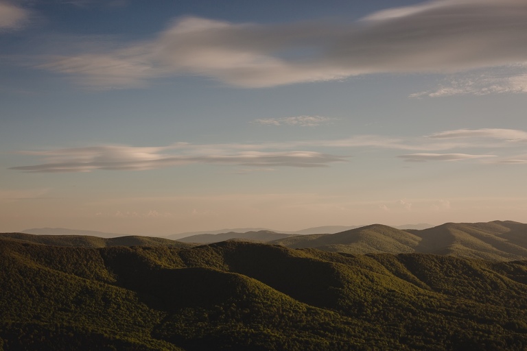
M 0 232 L 527 221 L 526 0 L 0 0 Z

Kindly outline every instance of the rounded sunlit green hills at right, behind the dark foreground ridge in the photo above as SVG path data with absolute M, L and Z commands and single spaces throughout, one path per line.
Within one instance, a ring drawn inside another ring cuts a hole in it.
M 336 234 L 303 235 L 270 243 L 349 254 L 416 252 L 510 261 L 527 258 L 527 225 L 493 221 L 398 230 L 375 224 Z

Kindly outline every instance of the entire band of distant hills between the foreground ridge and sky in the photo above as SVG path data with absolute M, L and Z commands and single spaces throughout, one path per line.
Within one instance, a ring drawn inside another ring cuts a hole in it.
M 318 227 L 342 228 L 342 227 Z M 318 228 L 309 228 L 317 230 Z M 347 228 L 347 227 L 344 227 Z M 46 233 L 54 232 L 46 229 Z M 56 234 L 64 232 L 58 230 Z M 79 232 L 79 231 L 77 231 Z M 69 231 L 72 234 L 71 231 Z M 99 232 L 95 232 L 98 234 Z M 103 233 L 104 234 L 104 233 Z M 108 234 L 108 233 L 106 233 Z M 515 221 L 488 223 L 445 223 L 424 230 L 401 230 L 380 224 L 362 226 L 333 234 L 288 234 L 270 230 L 244 233 L 197 234 L 173 241 L 167 238 L 126 236 L 119 238 L 78 237 L 75 235 L 11 235 L 12 239 L 48 245 L 106 247 L 113 245 L 178 246 L 205 244 L 226 240 L 244 240 L 282 245 L 293 249 L 313 248 L 347 254 L 424 253 L 447 256 L 511 261 L 527 258 L 527 224 Z M 25 237 L 24 237 L 25 235 Z M 109 235 L 109 234 L 108 234 Z

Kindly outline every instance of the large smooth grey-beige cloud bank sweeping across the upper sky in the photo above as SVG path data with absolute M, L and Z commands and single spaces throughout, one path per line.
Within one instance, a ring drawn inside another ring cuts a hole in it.
M 186 17 L 124 49 L 66 53 L 39 67 L 99 88 L 202 75 L 246 87 L 527 62 L 527 1 L 436 0 L 351 23 L 255 25 Z

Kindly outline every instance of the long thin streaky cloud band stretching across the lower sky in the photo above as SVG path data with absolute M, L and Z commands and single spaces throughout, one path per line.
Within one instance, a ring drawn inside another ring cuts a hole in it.
M 89 172 L 97 169 L 119 171 L 142 171 L 195 163 L 209 165 L 235 165 L 257 167 L 266 171 L 271 167 L 327 167 L 335 162 L 347 162 L 347 156 L 338 156 L 308 148 L 377 148 L 401 150 L 446 150 L 446 149 L 515 149 L 525 147 L 527 132 L 510 129 L 447 130 L 420 138 L 386 138 L 384 136 L 353 136 L 333 141 L 292 141 L 262 144 L 190 144 L 174 143 L 164 147 L 130 147 L 100 145 L 56 149 L 49 151 L 19 152 L 37 156 L 45 163 L 11 169 L 31 173 Z M 461 139 L 456 142 L 444 141 Z M 298 151 L 298 148 L 308 149 Z M 294 150 L 294 151 L 289 151 Z M 495 150 L 494 150 L 495 151 Z M 527 163 L 525 155 L 497 158 L 493 154 L 467 153 L 415 153 L 399 155 L 405 161 L 455 161 L 480 158 L 496 158 L 496 164 Z

